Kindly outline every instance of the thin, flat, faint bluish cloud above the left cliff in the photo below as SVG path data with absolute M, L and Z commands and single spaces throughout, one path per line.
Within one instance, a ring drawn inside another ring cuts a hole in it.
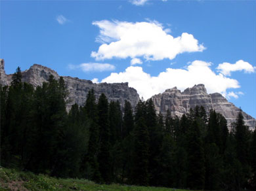
M 110 63 L 81 63 L 79 65 L 68 65 L 69 69 L 81 69 L 84 72 L 89 71 L 113 71 L 116 67 Z

